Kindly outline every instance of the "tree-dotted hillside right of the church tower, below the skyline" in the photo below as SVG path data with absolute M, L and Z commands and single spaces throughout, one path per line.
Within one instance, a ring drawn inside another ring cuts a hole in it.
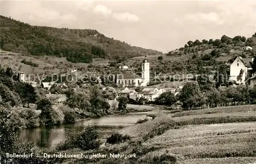
M 243 50 L 246 46 L 252 50 Z M 252 57 L 256 55 L 256 33 L 250 38 L 223 35 L 220 39 L 203 39 L 188 41 L 184 47 L 168 52 L 165 55 L 147 56 L 154 74 L 200 74 L 216 71 L 216 68 L 237 56 Z M 143 57 L 134 57 L 126 62 L 138 65 Z

